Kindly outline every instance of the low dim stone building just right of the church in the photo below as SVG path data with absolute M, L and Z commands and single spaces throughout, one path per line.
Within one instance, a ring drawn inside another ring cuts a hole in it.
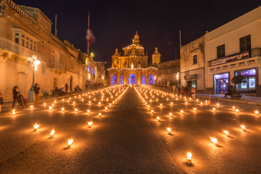
M 177 73 L 180 72 L 180 59 L 158 64 L 157 85 L 177 85 Z M 178 76 L 178 79 L 179 76 Z

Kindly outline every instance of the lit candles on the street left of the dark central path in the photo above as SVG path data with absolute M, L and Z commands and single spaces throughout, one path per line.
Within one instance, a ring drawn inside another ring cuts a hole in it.
M 111 87 L 108 87 L 108 88 L 111 88 Z M 110 90 L 108 90 L 108 88 L 104 88 L 104 89 L 101 89 L 101 90 L 99 90 L 99 91 L 103 91 L 103 90 L 106 90 L 106 92 L 108 92 L 110 95 L 111 95 L 111 93 L 109 92 Z M 119 96 L 117 97 L 117 99 L 119 99 L 121 96 L 122 96 L 122 94 L 127 90 L 127 88 L 125 87 L 113 87 L 112 89 L 113 89 L 113 92 L 115 91 L 115 88 L 116 89 L 118 89 L 118 88 L 120 88 L 121 90 L 118 90 L 118 92 L 116 93 L 116 95 L 118 95 L 119 94 Z M 125 89 L 125 90 L 124 90 Z M 94 92 L 96 92 L 96 91 L 94 91 Z M 93 93 L 94 93 L 93 92 Z M 97 93 L 97 92 L 96 92 Z M 102 93 L 103 94 L 103 93 Z M 102 97 L 103 97 L 103 95 L 102 95 Z M 63 99 L 63 101 L 64 101 L 64 99 Z M 115 102 L 116 102 L 117 100 L 115 100 Z M 55 103 L 57 102 L 56 100 L 54 101 Z M 114 101 L 113 101 L 113 103 L 115 103 Z M 99 102 L 99 104 L 100 104 L 100 102 Z M 110 106 L 111 106 L 111 104 L 110 104 Z M 52 110 L 52 108 L 54 107 L 54 104 L 52 104 L 52 106 L 49 106 L 49 110 Z M 33 107 L 31 107 L 31 108 L 33 108 Z M 105 107 L 105 110 L 108 110 L 108 108 L 107 107 Z M 65 109 L 64 109 L 64 107 L 62 108 L 62 111 L 65 111 Z M 75 109 L 75 111 L 76 112 L 78 112 L 78 109 Z M 13 114 L 15 113 L 15 111 L 13 110 Z M 89 113 L 90 114 L 90 110 L 87 110 L 87 113 Z M 101 117 L 101 113 L 98 113 L 98 117 Z M 93 122 L 92 121 L 90 121 L 90 122 L 87 122 L 88 123 L 88 128 L 91 128 L 91 125 L 93 124 Z M 33 125 L 33 127 L 34 127 L 34 131 L 37 131 L 37 129 L 39 128 L 39 124 L 37 124 L 37 123 L 35 123 L 34 125 Z M 50 133 L 50 138 L 54 138 L 54 133 L 55 133 L 55 130 L 54 129 L 52 129 L 52 131 L 51 131 L 51 133 Z M 71 146 L 72 146 L 72 143 L 74 142 L 74 139 L 68 139 L 68 144 L 67 144 L 67 148 L 71 148 Z

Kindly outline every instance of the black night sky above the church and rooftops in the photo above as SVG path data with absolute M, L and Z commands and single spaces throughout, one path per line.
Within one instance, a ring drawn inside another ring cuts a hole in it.
M 90 28 L 96 42 L 89 48 L 95 61 L 111 62 L 115 48 L 132 44 L 138 31 L 149 58 L 155 47 L 162 61 L 174 60 L 175 49 L 185 45 L 261 5 L 260 0 L 14 0 L 37 7 L 52 20 L 58 15 L 58 38 L 87 52 L 85 34 L 90 10 Z M 169 43 L 171 42 L 171 56 Z M 179 57 L 179 56 L 177 56 Z M 108 67 L 111 64 L 106 64 Z

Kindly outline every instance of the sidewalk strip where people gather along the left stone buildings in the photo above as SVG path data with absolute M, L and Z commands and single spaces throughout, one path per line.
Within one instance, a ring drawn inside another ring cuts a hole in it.
M 98 89 L 97 89 L 98 90 Z M 92 90 L 87 90 L 87 92 L 91 92 Z M 57 99 L 57 98 L 64 98 L 64 97 L 67 97 L 67 96 L 71 96 L 71 95 L 79 95 L 81 93 L 86 93 L 85 91 L 84 92 L 74 92 L 74 91 L 69 91 L 67 92 L 67 94 L 65 94 L 64 96 L 59 96 L 59 97 L 54 97 L 52 95 L 48 95 L 47 97 L 46 96 L 40 96 L 39 97 L 39 100 L 38 100 L 38 103 L 41 103 L 41 102 L 46 102 L 46 101 L 49 101 L 49 100 L 54 100 L 54 99 Z M 34 98 L 35 99 L 35 98 Z M 4 101 L 3 101 L 4 102 Z M 1 108 L 1 113 L 2 112 L 6 112 L 6 111 L 10 111 L 12 109 L 12 102 L 13 101 L 8 101 L 8 102 L 4 102 L 4 107 Z M 29 105 L 34 105 L 34 102 L 29 102 Z M 19 104 L 18 102 L 15 103 L 15 108 L 16 109 L 21 109 L 22 107 L 20 106 L 18 108 Z M 28 107 L 28 105 L 27 105 Z

